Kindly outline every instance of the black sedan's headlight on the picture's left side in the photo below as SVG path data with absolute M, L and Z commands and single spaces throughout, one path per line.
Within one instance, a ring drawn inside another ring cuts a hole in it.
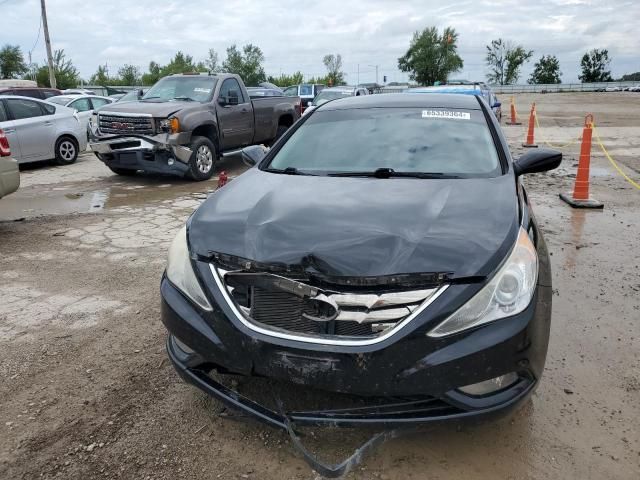
M 211 310 L 211 305 L 202 291 L 191 266 L 186 227 L 180 229 L 169 248 L 167 278 L 176 288 L 193 300 L 196 305 L 204 310 Z

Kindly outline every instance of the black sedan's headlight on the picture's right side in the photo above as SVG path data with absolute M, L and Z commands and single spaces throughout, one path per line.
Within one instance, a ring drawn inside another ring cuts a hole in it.
M 427 335 L 444 337 L 517 315 L 531 302 L 537 280 L 538 254 L 529 235 L 520 227 L 513 250 L 489 283 Z

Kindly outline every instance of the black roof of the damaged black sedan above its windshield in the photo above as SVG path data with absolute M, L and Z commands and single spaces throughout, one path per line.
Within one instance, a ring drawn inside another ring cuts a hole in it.
M 321 105 L 322 110 L 349 110 L 353 108 L 465 108 L 480 110 L 475 95 L 432 93 L 431 95 L 407 95 L 384 93 L 346 97 Z

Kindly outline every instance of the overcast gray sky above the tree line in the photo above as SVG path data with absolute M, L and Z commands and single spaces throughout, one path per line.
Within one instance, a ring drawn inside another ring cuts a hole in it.
M 203 60 L 209 48 L 224 58 L 226 47 L 246 43 L 264 52 L 267 74 L 300 70 L 324 74 L 322 57 L 342 54 L 347 81 L 401 81 L 397 69 L 414 31 L 436 25 L 460 34 L 464 69 L 453 75 L 484 79 L 485 45 L 502 37 L 534 50 L 520 83 L 543 54 L 560 59 L 564 82 L 578 80 L 580 58 L 606 48 L 614 78 L 640 71 L 638 0 L 48 0 L 54 49 L 63 48 L 80 74 L 98 65 L 115 73 L 125 63 L 146 70 L 149 61 L 169 61 L 177 50 Z M 44 63 L 38 38 L 38 0 L 0 0 L 0 45 L 20 45 L 25 57 Z

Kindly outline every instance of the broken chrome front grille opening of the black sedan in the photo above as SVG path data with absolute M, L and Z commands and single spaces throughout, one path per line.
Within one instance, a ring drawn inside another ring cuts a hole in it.
M 288 331 L 313 336 L 338 336 L 367 339 L 391 330 L 411 315 L 437 289 L 385 292 L 330 293 L 329 301 L 336 303 L 335 319 L 321 321 L 317 303 L 310 298 L 240 283 L 232 275 L 224 278 L 231 298 L 244 317 L 263 328 L 277 332 Z M 299 279 L 298 279 L 299 281 Z M 400 295 L 401 297 L 394 297 Z

